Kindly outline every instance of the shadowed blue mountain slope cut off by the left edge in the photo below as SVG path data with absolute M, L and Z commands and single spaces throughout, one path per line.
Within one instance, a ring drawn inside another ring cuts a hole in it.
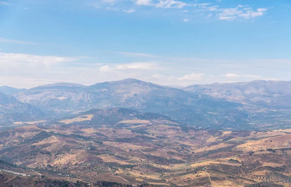
M 0 124 L 43 119 L 44 112 L 0 92 Z

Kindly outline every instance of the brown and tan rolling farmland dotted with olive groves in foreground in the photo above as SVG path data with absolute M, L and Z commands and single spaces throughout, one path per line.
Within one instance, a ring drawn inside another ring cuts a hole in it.
M 220 131 L 169 121 L 121 123 L 2 130 L 0 172 L 25 174 L 23 180 L 32 183 L 42 175 L 93 186 L 104 181 L 161 187 L 291 184 L 290 129 Z

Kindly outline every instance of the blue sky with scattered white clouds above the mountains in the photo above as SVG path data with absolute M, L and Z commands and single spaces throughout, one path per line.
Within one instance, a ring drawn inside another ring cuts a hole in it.
M 291 80 L 291 0 L 0 0 L 0 86 Z

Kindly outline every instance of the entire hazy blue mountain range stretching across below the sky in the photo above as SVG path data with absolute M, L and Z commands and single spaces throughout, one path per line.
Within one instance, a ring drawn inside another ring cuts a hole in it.
M 189 125 L 264 129 L 289 124 L 291 81 L 256 80 L 173 88 L 129 78 L 91 86 L 74 83 L 42 85 L 14 90 L 6 100 L 9 98 L 29 104 L 51 119 L 92 108 L 117 107 L 158 113 Z

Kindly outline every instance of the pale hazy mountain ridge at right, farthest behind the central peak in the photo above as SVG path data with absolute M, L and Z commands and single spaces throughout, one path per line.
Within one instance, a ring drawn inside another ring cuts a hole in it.
M 192 85 L 183 90 L 213 98 L 223 98 L 231 102 L 291 108 L 291 81 L 255 80 L 251 82 L 215 83 Z

